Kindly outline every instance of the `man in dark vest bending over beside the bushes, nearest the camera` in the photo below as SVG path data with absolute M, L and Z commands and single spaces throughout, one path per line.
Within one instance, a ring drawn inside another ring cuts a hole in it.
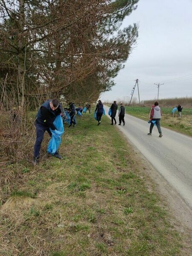
M 39 108 L 36 122 L 35 122 L 37 136 L 36 136 L 36 142 L 34 146 L 33 164 L 38 163 L 39 153 L 41 149 L 41 143 L 44 138 L 44 133 L 47 131 L 50 137 L 52 136 L 50 128 L 52 130 L 56 130 L 53 122 L 55 121 L 56 116 L 60 114 L 61 114 L 61 108 L 59 107 L 59 102 L 57 99 L 48 100 L 47 102 L 44 102 Z M 54 154 L 54 157 L 58 157 L 59 159 L 62 159 L 62 157 L 60 156 L 60 154 L 58 154 L 58 152 Z

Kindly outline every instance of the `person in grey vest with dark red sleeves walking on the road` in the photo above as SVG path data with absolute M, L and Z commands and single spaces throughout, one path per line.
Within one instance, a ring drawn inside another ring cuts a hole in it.
M 162 112 L 159 107 L 159 102 L 156 101 L 156 102 L 154 102 L 154 105 L 151 107 L 151 111 L 150 111 L 151 125 L 150 125 L 148 135 L 152 135 L 152 130 L 153 130 L 154 123 L 155 123 L 157 125 L 157 129 L 159 131 L 159 137 L 163 136 L 163 134 L 161 132 L 161 126 L 160 126 L 161 116 L 162 116 Z M 152 121 L 154 121 L 154 122 L 152 122 Z

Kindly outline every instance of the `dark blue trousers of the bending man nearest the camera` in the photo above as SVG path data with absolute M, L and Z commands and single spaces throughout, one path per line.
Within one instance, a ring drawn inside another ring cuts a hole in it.
M 52 136 L 52 133 L 49 128 L 39 123 L 35 123 L 35 128 L 36 128 L 36 141 L 34 145 L 34 157 L 36 158 L 36 157 L 39 157 L 41 143 L 44 139 L 44 133 L 47 131 L 50 137 Z

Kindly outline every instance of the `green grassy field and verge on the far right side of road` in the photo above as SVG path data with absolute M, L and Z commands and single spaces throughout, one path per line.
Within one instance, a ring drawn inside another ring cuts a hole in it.
M 182 118 L 178 118 L 178 112 L 175 112 L 173 117 L 171 111 L 172 108 L 161 108 L 163 116 L 161 119 L 161 125 L 166 128 L 170 128 L 174 131 L 181 132 L 188 136 L 192 136 L 192 108 L 185 108 L 182 111 Z M 149 113 L 151 108 L 149 107 L 126 107 L 126 113 L 131 116 L 136 116 L 145 121 L 149 120 Z

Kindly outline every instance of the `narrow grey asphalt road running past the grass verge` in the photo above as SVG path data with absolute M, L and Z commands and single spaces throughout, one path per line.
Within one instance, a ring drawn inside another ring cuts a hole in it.
M 105 106 L 106 114 L 108 109 Z M 118 113 L 116 119 L 119 121 Z M 163 137 L 159 138 L 156 126 L 152 136 L 148 136 L 150 124 L 128 114 L 125 115 L 125 126 L 118 125 L 118 121 L 116 126 L 128 140 L 192 207 L 192 138 L 167 128 L 162 128 Z

